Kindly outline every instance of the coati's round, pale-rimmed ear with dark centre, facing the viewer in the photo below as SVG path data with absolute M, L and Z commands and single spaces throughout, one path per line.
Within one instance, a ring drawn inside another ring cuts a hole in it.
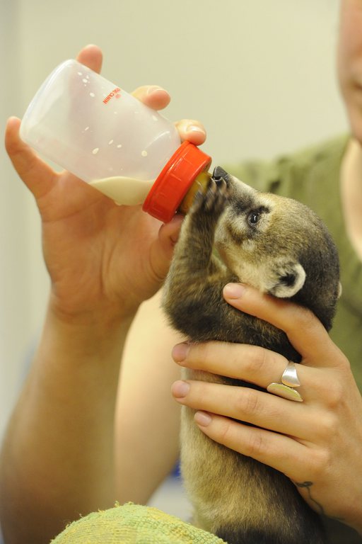
M 279 261 L 271 268 L 268 280 L 268 293 L 279 298 L 293 297 L 304 285 L 305 270 L 298 262 Z

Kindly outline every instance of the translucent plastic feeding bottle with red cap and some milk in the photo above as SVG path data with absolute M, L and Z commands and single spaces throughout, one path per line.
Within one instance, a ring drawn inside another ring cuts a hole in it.
M 211 157 L 175 126 L 76 60 L 60 64 L 21 122 L 21 138 L 115 200 L 167 222 L 205 187 Z

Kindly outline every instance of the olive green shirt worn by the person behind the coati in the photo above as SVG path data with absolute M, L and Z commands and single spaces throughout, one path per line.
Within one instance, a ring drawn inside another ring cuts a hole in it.
M 362 262 L 346 234 L 339 183 L 347 143 L 348 137 L 339 137 L 273 162 L 243 162 L 226 166 L 226 171 L 259 191 L 303 202 L 327 225 L 339 251 L 342 285 L 330 336 L 349 359 L 362 392 Z M 331 543 L 362 543 L 362 538 L 343 524 L 330 519 L 325 519 L 325 524 Z

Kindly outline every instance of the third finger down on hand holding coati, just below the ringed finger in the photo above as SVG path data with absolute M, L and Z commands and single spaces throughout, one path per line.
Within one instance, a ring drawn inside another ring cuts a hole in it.
M 195 410 L 245 421 L 262 429 L 293 436 L 298 441 L 310 442 L 320 438 L 320 429 L 315 431 L 311 424 L 319 411 L 267 392 L 194 380 L 178 380 L 173 384 L 172 392 L 177 402 Z

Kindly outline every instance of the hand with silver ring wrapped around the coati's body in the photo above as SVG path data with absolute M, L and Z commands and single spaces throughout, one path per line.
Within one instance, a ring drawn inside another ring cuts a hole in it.
M 196 424 L 212 440 L 283 472 L 315 511 L 362 534 L 362 399 L 349 362 L 309 310 L 247 285 L 226 285 L 223 295 L 238 310 L 286 332 L 302 356 L 304 402 L 204 381 L 187 381 L 187 392 L 184 382 L 176 382 L 173 395 L 197 410 Z M 173 358 L 263 390 L 280 381 L 288 363 L 274 351 L 225 342 L 178 344 Z

